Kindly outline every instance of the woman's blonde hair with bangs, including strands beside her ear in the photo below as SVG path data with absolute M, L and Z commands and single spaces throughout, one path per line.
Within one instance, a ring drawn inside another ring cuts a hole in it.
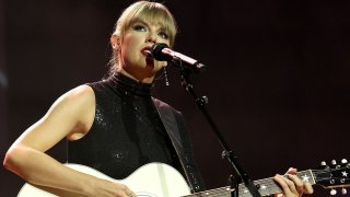
M 176 36 L 176 21 L 167 8 L 158 2 L 138 1 L 129 5 L 118 19 L 114 35 L 118 36 L 119 43 L 122 42 L 125 32 L 136 22 L 147 21 L 151 24 L 160 24 L 168 34 L 170 47 L 174 46 Z M 118 68 L 119 51 L 113 49 L 109 60 L 110 72 L 114 73 Z

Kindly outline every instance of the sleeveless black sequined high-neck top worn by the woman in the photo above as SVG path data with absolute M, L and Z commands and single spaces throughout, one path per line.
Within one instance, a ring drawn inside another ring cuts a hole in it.
M 192 190 L 203 188 L 191 151 L 184 151 L 184 143 L 190 141 L 173 132 L 170 138 L 168 130 L 173 128 L 165 129 L 162 119 L 173 121 L 171 127 L 176 124 L 180 130 L 185 130 L 185 126 L 177 123 L 177 115 L 160 118 L 159 113 L 168 113 L 170 106 L 166 105 L 164 111 L 164 103 L 158 100 L 154 102 L 151 96 L 152 84 L 140 83 L 117 73 L 89 85 L 95 94 L 94 123 L 82 139 L 68 142 L 69 163 L 88 165 L 121 179 L 147 163 L 161 162 L 183 173 Z M 162 105 L 160 112 L 158 105 Z M 191 148 L 190 144 L 188 147 Z

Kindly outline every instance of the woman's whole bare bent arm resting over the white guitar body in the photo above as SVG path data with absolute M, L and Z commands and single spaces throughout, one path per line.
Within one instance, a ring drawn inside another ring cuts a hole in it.
M 9 149 L 3 164 L 26 182 L 86 196 L 125 196 L 130 190 L 71 170 L 45 152 L 61 139 L 83 137 L 90 129 L 95 109 L 92 89 L 82 85 L 59 97 L 47 114 Z

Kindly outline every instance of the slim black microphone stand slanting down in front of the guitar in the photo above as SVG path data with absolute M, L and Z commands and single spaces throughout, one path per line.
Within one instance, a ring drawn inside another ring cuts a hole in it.
M 249 178 L 248 174 L 238 164 L 237 157 L 235 157 L 233 151 L 229 148 L 228 142 L 225 141 L 225 139 L 223 138 L 223 136 L 219 131 L 219 128 L 217 127 L 213 119 L 211 118 L 210 114 L 206 109 L 206 105 L 209 103 L 208 97 L 207 96 L 201 96 L 201 97 L 197 96 L 197 94 L 194 90 L 194 85 L 191 84 L 191 82 L 189 80 L 189 73 L 192 72 L 192 70 L 188 67 L 183 66 L 183 63 L 179 59 L 171 61 L 170 65 L 173 65 L 173 66 L 179 68 L 182 85 L 185 88 L 185 90 L 187 92 L 190 93 L 190 95 L 192 95 L 197 106 L 205 115 L 210 127 L 212 128 L 215 136 L 218 137 L 219 142 L 221 143 L 221 146 L 224 149 L 222 152 L 222 159 L 228 160 L 228 162 L 231 166 L 230 170 L 233 173 L 233 175 L 231 175 L 229 177 L 229 183 L 231 186 L 231 197 L 238 197 L 238 187 L 240 187 L 240 183 L 242 183 L 242 182 L 247 187 L 247 189 L 250 192 L 253 197 L 261 197 L 260 193 L 258 192 L 259 185 L 255 185 L 253 183 L 253 181 Z

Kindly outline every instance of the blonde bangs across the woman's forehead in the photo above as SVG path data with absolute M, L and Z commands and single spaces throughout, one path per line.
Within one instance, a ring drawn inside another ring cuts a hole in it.
M 133 12 L 129 12 L 125 21 L 125 30 L 137 22 L 148 22 L 160 25 L 170 36 L 171 47 L 174 45 L 176 35 L 176 22 L 170 11 L 162 4 L 148 2 L 140 4 Z

